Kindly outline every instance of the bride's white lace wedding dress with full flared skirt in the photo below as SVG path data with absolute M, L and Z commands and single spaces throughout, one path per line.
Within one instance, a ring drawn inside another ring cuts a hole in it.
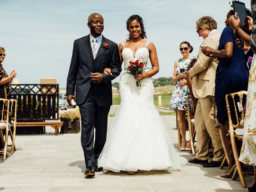
M 148 46 L 133 53 L 123 47 L 124 68 L 134 58 L 147 62 Z M 122 74 L 119 90 L 121 104 L 108 127 L 106 144 L 98 166 L 114 172 L 137 170 L 171 170 L 186 164 L 170 139 L 164 122 L 154 106 L 152 78 L 144 78 L 141 87 L 134 77 Z

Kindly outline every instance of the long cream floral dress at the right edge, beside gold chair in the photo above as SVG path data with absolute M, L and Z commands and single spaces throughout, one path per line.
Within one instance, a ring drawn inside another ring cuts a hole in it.
M 244 120 L 244 138 L 239 160 L 256 165 L 256 54 L 252 59 Z

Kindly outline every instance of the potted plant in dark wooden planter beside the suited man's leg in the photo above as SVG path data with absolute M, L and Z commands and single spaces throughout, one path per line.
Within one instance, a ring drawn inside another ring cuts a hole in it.
M 80 132 L 81 116 L 79 109 L 75 111 L 67 111 L 60 114 L 60 121 L 63 122 L 63 126 L 60 129 L 60 133 L 78 133 Z

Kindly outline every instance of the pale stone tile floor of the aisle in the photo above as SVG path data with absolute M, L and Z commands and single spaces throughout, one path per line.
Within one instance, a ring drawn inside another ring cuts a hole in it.
M 177 148 L 175 116 L 162 116 Z M 112 117 L 109 117 L 111 122 Z M 135 175 L 126 172 L 97 172 L 84 178 L 84 157 L 80 134 L 17 136 L 17 151 L 0 159 L 0 192 L 246 192 L 239 178 L 220 178 L 224 170 L 187 164 L 180 170 L 150 171 Z M 52 132 L 52 133 L 49 133 Z M 187 159 L 188 152 L 177 152 Z M 1 158 L 1 156 L 0 156 Z M 252 176 L 246 176 L 248 186 Z

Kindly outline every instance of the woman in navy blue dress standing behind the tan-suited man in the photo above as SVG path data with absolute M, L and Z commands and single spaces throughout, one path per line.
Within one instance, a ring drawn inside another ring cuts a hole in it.
M 246 65 L 244 51 L 236 45 L 236 37 L 234 30 L 229 26 L 229 18 L 234 15 L 234 11 L 230 10 L 225 20 L 226 28 L 224 28 L 221 36 L 218 50 L 205 47 L 204 52 L 217 56 L 219 64 L 216 70 L 215 79 L 215 102 L 217 106 L 217 118 L 222 131 L 223 143 L 226 148 L 227 156 L 230 161 L 226 172 L 220 176 L 224 178 L 232 177 L 232 167 L 235 164 L 232 152 L 230 136 L 228 134 L 228 113 L 226 108 L 226 94 L 247 90 L 249 69 Z

